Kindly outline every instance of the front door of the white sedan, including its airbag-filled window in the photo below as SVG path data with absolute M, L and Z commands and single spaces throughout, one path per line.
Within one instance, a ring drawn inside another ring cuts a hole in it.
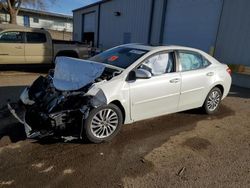
M 138 68 L 150 71 L 152 77 L 129 83 L 131 118 L 138 121 L 177 111 L 181 76 L 175 71 L 174 53 L 155 54 Z

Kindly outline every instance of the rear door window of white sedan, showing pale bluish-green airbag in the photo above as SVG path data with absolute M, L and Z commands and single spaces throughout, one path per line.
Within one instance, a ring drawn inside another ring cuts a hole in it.
M 199 54 L 179 52 L 179 62 L 182 67 L 182 71 L 190 71 L 203 68 L 203 58 Z

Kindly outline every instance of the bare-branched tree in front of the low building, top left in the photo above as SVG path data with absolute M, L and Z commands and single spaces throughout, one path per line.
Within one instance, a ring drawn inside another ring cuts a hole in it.
M 55 2 L 55 0 L 50 0 Z M 45 0 L 0 0 L 0 9 L 4 9 L 10 15 L 10 23 L 17 24 L 17 14 L 23 6 L 32 6 L 34 8 L 45 9 L 47 1 Z

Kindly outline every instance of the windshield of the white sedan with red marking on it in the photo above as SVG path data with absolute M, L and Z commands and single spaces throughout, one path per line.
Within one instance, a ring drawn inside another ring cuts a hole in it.
M 89 60 L 126 69 L 147 52 L 141 49 L 117 47 L 100 53 Z

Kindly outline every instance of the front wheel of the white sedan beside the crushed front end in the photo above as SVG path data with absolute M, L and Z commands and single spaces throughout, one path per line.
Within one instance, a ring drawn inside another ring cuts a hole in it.
M 83 125 L 84 133 L 93 143 L 110 141 L 120 131 L 122 122 L 122 112 L 116 105 L 101 106 L 89 113 Z

